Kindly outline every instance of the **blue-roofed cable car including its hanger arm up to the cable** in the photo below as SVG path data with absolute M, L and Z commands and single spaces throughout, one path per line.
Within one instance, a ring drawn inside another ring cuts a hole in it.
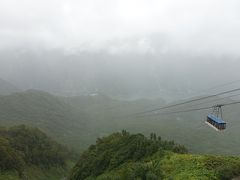
M 222 106 L 218 104 L 213 106 L 213 112 L 207 116 L 206 124 L 217 131 L 226 129 L 226 122 L 222 118 Z

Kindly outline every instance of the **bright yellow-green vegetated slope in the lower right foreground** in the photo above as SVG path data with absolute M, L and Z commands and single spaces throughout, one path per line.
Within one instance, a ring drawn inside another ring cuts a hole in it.
M 239 175 L 239 157 L 157 152 L 141 162 L 128 162 L 112 171 L 106 171 L 96 179 L 229 180 Z

